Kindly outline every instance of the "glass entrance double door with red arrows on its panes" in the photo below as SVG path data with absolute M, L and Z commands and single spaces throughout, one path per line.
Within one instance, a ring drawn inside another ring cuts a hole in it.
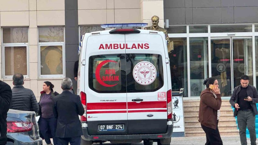
M 230 97 L 243 74 L 253 85 L 252 38 L 211 38 L 211 77 L 218 80 L 221 96 Z

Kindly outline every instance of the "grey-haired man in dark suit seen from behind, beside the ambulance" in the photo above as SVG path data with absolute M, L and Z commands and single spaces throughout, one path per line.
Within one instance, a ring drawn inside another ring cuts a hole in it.
M 80 145 L 82 126 L 78 115 L 84 114 L 84 108 L 78 95 L 71 93 L 72 81 L 64 78 L 61 82 L 63 92 L 54 97 L 54 115 L 57 118 L 56 137 L 58 145 Z

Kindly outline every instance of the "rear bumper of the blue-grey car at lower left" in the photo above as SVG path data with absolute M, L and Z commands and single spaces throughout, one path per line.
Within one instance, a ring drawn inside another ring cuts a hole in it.
M 43 141 L 41 138 L 37 140 L 33 140 L 27 133 L 7 133 L 7 138 L 9 140 L 13 140 L 14 143 L 12 142 L 7 142 L 8 145 L 41 145 L 43 144 Z

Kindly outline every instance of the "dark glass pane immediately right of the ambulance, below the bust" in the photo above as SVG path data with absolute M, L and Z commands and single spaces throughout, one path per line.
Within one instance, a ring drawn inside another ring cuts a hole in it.
M 188 97 L 187 89 L 187 39 L 169 38 L 174 50 L 169 54 L 172 91 L 184 88 L 183 97 Z

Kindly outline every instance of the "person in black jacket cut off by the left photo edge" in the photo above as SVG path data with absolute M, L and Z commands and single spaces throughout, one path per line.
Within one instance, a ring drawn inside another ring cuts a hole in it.
M 7 112 L 12 102 L 12 90 L 5 82 L 0 81 L 0 145 L 6 144 Z

